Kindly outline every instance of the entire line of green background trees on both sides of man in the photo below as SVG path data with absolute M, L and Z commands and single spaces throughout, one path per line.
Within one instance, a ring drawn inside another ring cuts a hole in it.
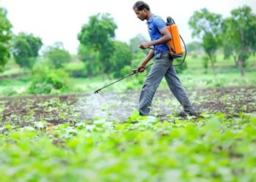
M 209 12 L 208 9 L 195 11 L 189 19 L 192 36 L 200 39 L 200 46 L 208 57 L 214 72 L 217 50 L 222 50 L 225 58 L 233 58 L 236 66 L 245 74 L 246 60 L 255 55 L 256 15 L 248 6 L 233 9 L 230 17 Z M 89 22 L 82 25 L 78 33 L 78 58 L 85 63 L 86 75 L 90 78 L 103 73 L 115 77 L 136 68 L 147 51 L 138 50 L 138 44 L 146 38 L 138 35 L 129 44 L 117 41 L 117 25 L 108 13 L 92 15 Z M 10 58 L 20 67 L 33 68 L 42 50 L 42 39 L 32 33 L 12 33 L 12 24 L 7 19 L 7 10 L 0 7 L 0 71 Z M 193 44 L 189 45 L 193 47 Z M 194 45 L 195 46 L 195 45 Z M 53 68 L 61 68 L 71 60 L 71 55 L 61 42 L 48 46 L 42 57 Z

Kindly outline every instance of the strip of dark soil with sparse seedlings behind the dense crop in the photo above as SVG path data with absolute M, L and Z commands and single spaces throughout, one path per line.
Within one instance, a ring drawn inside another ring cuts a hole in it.
M 199 113 L 225 114 L 256 112 L 256 87 L 219 87 L 187 90 Z M 140 92 L 100 92 L 80 95 L 40 95 L 0 98 L 0 125 L 10 123 L 26 126 L 38 121 L 51 124 L 75 122 L 105 116 L 109 120 L 125 120 L 138 104 Z M 151 114 L 177 114 L 181 105 L 169 90 L 158 90 Z

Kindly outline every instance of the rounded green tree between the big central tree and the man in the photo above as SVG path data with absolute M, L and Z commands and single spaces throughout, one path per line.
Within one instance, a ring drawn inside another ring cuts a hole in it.
M 115 51 L 111 56 L 112 61 L 112 71 L 115 77 L 123 76 L 121 74 L 121 69 L 124 66 L 130 65 L 132 60 L 132 51 L 129 46 L 121 41 L 114 42 Z

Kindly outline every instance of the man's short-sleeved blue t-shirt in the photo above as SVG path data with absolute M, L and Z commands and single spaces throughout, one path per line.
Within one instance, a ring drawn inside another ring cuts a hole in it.
M 152 14 L 147 24 L 148 24 L 148 33 L 151 38 L 151 41 L 160 39 L 162 37 L 160 30 L 166 27 L 165 21 L 161 17 L 158 17 Z M 154 55 L 158 55 L 161 51 L 165 51 L 165 52 L 169 51 L 166 44 L 156 44 L 154 45 L 154 49 L 155 49 Z

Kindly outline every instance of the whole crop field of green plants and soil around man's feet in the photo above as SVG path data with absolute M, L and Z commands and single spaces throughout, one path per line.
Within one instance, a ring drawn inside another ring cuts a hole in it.
M 256 87 L 1 98 L 0 181 L 255 181 Z

